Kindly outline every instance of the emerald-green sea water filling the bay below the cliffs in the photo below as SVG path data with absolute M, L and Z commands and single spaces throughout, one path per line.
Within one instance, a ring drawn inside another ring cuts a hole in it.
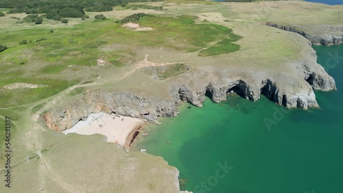
M 338 86 L 316 92 L 321 109 L 286 111 L 265 97 L 252 102 L 234 94 L 220 104 L 207 99 L 145 127 L 149 136 L 134 148 L 176 166 L 187 181 L 182 189 L 194 193 L 343 192 L 343 45 L 314 49 Z M 277 125 L 268 129 L 266 119 Z M 218 164 L 233 168 L 217 172 Z

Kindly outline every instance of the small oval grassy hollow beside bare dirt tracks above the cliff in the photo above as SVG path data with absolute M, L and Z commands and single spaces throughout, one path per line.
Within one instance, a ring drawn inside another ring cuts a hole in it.
M 167 79 L 176 77 L 189 70 L 187 64 L 178 63 L 165 66 L 149 66 L 142 68 L 143 72 L 147 75 L 151 75 L 154 79 Z

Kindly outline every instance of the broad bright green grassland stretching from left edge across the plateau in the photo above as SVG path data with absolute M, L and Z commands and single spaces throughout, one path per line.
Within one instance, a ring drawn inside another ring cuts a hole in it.
M 40 61 L 45 65 L 39 66 L 36 73 L 52 74 L 60 73 L 70 65 L 95 66 L 100 56 L 113 66 L 122 66 L 123 62 L 119 59 L 128 55 L 125 50 L 120 53 L 101 51 L 98 48 L 106 44 L 125 43 L 147 47 L 165 46 L 179 51 L 197 51 L 209 46 L 210 42 L 219 41 L 231 32 L 230 29 L 220 25 L 196 24 L 189 16 L 144 17 L 138 23 L 142 27 L 153 27 L 154 30 L 134 31 L 108 19 L 82 23 L 75 27 L 60 27 L 53 33 L 50 33 L 49 29 L 41 28 L 2 31 L 0 42 L 7 45 L 8 50 L 1 53 L 3 57 L 0 59 L 0 68 L 5 71 L 5 76 L 14 76 L 13 73 L 22 75 L 21 70 L 12 70 L 10 73 L 7 70 L 14 67 L 23 68 L 25 65 L 29 68 L 28 65 L 33 61 Z M 21 40 L 27 40 L 29 43 L 19 44 Z M 219 47 L 226 49 L 222 44 Z M 228 49 L 231 51 L 231 48 Z M 207 55 L 213 54 L 218 53 L 211 52 Z

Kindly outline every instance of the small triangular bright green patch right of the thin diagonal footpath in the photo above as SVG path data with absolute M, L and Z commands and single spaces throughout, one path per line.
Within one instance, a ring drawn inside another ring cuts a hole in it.
M 230 53 L 233 51 L 239 50 L 239 45 L 234 44 L 233 42 L 239 40 L 241 36 L 230 34 L 228 37 L 224 38 L 222 41 L 217 42 L 208 49 L 204 49 L 199 52 L 199 56 L 210 56 L 210 55 L 219 55 L 223 53 Z

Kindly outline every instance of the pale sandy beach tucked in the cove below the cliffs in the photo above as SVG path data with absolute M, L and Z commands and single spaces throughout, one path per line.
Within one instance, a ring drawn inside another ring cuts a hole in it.
M 89 115 L 87 120 L 80 120 L 74 127 L 63 131 L 63 133 L 78 133 L 86 136 L 98 133 L 106 136 L 107 142 L 117 142 L 123 146 L 129 133 L 141 123 L 143 121 L 138 118 L 128 116 L 117 117 L 113 114 L 109 115 L 100 112 Z

